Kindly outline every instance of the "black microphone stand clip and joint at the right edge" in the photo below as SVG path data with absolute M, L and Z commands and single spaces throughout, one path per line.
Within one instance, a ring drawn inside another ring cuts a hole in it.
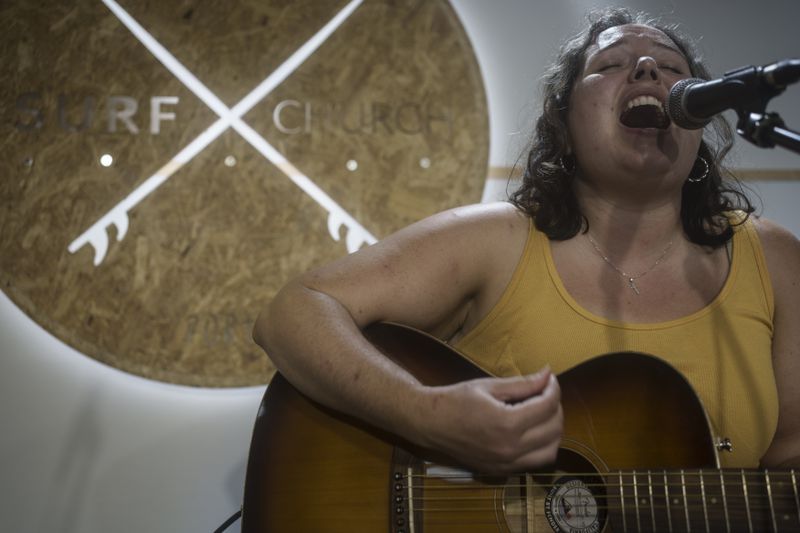
M 751 105 L 742 105 L 736 109 L 739 115 L 736 133 L 761 148 L 774 148 L 778 145 L 800 154 L 800 133 L 786 128 L 777 113 L 766 111 L 770 99 L 782 93 L 787 85 L 800 79 L 800 59 L 781 61 L 770 70 L 765 74 L 772 83 L 757 84 L 754 87 L 755 98 L 750 99 Z

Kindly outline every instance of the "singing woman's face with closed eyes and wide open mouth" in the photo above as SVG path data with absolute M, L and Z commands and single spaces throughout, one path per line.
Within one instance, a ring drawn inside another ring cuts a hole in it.
M 666 101 L 672 85 L 689 77 L 686 58 L 655 28 L 628 24 L 600 33 L 586 50 L 567 114 L 578 178 L 628 190 L 635 183 L 652 190 L 653 180 L 679 188 L 702 130 L 671 124 Z

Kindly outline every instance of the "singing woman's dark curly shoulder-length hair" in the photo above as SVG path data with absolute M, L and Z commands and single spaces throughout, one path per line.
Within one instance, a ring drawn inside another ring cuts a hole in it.
M 691 41 L 674 25 L 661 24 L 644 13 L 631 14 L 624 8 L 594 11 L 588 15 L 588 22 L 586 29 L 562 46 L 557 60 L 544 77 L 542 114 L 536 121 L 522 183 L 510 196 L 511 203 L 532 217 L 536 228 L 553 240 L 570 239 L 581 230 L 589 229 L 589 222 L 581 213 L 572 190 L 574 168 L 565 168 L 563 163 L 565 158 L 567 161 L 571 159 L 567 156 L 569 97 L 583 69 L 584 54 L 597 36 L 608 28 L 623 24 L 656 28 L 680 49 L 693 77 L 710 78 Z M 696 244 L 724 245 L 733 236 L 731 226 L 741 224 L 754 211 L 738 181 L 722 164 L 732 145 L 731 127 L 717 115 L 706 128 L 698 150 L 698 155 L 708 162 L 708 176 L 696 183 L 686 181 L 683 185 L 681 221 L 687 237 Z M 696 167 L 700 165 L 695 164 Z M 692 174 L 702 174 L 704 170 L 704 167 L 693 168 Z M 738 221 L 729 220 L 726 213 L 735 210 L 744 211 L 745 217 Z

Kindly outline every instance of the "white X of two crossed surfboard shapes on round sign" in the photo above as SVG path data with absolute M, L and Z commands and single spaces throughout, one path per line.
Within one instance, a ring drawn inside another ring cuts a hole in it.
M 194 74 L 184 67 L 166 48 L 150 35 L 133 17 L 114 0 L 102 0 L 119 20 L 139 39 L 139 41 L 203 103 L 220 118 L 178 152 L 167 164 L 145 180 L 125 199 L 95 222 L 88 230 L 70 243 L 68 250 L 75 253 L 85 244 L 95 249 L 94 264 L 99 265 L 108 250 L 108 228 L 113 224 L 117 240 L 121 241 L 128 229 L 128 211 L 163 184 L 178 169 L 192 160 L 200 151 L 232 127 L 272 164 L 277 166 L 290 180 L 300 187 L 313 200 L 328 211 L 328 231 L 334 240 L 340 239 L 342 226 L 346 227 L 348 252 L 354 252 L 364 244 L 372 244 L 377 239 L 342 209 L 330 196 L 312 182 L 306 175 L 292 165 L 280 152 L 261 135 L 248 126 L 241 117 L 283 82 L 303 61 L 305 61 L 328 37 L 358 8 L 363 0 L 352 0 L 344 9 L 323 26 L 311 39 L 284 61 L 272 74 L 250 91 L 232 109 L 228 108 Z

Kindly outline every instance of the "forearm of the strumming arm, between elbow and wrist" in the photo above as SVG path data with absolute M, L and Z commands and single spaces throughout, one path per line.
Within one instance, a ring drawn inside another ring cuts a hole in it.
M 253 337 L 307 396 L 393 433 L 421 438 L 413 413 L 423 408 L 425 388 L 376 350 L 334 298 L 293 282 L 261 313 Z

